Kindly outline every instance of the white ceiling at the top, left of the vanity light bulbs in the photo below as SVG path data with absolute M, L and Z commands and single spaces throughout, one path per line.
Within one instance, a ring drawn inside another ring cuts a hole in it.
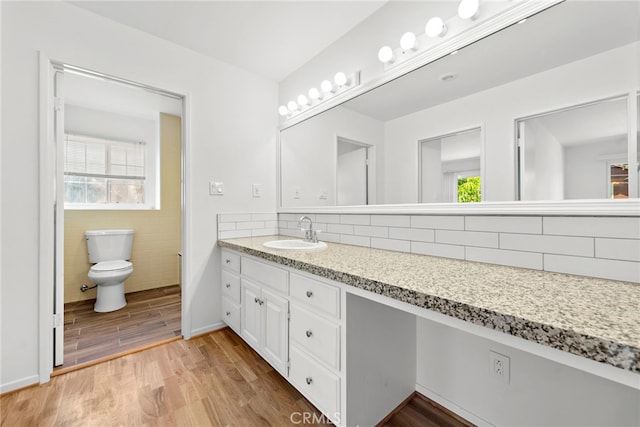
M 279 82 L 386 1 L 70 3 Z

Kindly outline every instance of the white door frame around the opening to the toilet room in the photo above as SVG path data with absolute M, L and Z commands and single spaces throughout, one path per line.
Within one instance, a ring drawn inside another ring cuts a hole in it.
M 60 203 L 63 197 L 61 191 L 57 191 L 56 185 L 56 162 L 59 160 L 55 144 L 55 117 L 54 117 L 54 75 L 55 64 L 62 64 L 63 61 L 56 61 L 39 51 L 39 242 L 38 242 L 38 371 L 40 383 L 46 383 L 51 378 L 54 367 L 54 316 L 53 309 L 56 302 L 54 294 L 54 277 L 56 274 L 56 251 L 55 234 L 58 229 L 54 210 L 56 203 Z M 90 70 L 90 67 L 78 67 Z M 100 73 L 96 73 L 100 74 Z M 191 221 L 188 215 L 190 206 L 190 194 L 188 192 L 190 167 L 190 100 L 189 93 L 159 89 L 151 85 L 128 81 L 115 76 L 104 75 L 114 81 L 130 83 L 134 86 L 173 94 L 182 99 L 182 144 L 181 144 L 181 234 L 182 234 L 182 297 L 181 297 L 181 330 L 185 339 L 191 337 L 191 319 L 188 316 L 190 311 L 188 301 L 190 300 L 189 281 L 190 274 L 190 230 Z M 62 203 L 64 203 L 62 201 Z M 62 205 L 63 206 L 63 205 Z M 62 218 L 64 222 L 64 217 Z M 60 255 L 60 254 L 58 254 Z M 61 254 L 64 257 L 64 253 Z M 64 258 L 62 258 L 64 259 Z M 64 322 L 63 322 L 64 323 Z

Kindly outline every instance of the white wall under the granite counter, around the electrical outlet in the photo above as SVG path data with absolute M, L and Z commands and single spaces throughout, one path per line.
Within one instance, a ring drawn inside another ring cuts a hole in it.
M 510 383 L 489 375 L 510 358 Z M 417 318 L 418 389 L 499 426 L 637 426 L 640 390 Z

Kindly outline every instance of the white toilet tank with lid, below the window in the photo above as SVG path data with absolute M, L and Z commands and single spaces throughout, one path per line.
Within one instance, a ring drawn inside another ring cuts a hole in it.
M 84 235 L 92 264 L 131 259 L 133 230 L 87 230 Z

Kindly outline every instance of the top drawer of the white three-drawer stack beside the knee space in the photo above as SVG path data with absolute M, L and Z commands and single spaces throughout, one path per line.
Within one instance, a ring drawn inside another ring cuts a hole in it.
M 333 317 L 340 317 L 340 289 L 291 273 L 291 297 Z

